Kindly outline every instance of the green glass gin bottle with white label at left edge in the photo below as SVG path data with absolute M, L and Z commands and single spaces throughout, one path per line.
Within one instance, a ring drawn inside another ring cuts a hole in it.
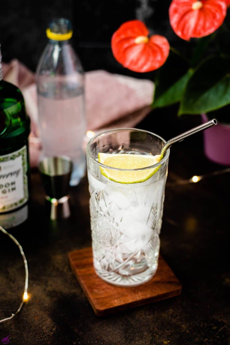
M 3 80 L 0 51 L 0 225 L 4 228 L 28 217 L 29 133 L 22 93 Z

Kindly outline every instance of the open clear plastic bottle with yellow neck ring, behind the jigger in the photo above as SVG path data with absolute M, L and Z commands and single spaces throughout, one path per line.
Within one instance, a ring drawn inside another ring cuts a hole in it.
M 74 163 L 70 185 L 75 186 L 85 173 L 82 141 L 86 118 L 84 71 L 70 44 L 72 33 L 67 19 L 50 22 L 36 83 L 43 156 L 69 156 Z

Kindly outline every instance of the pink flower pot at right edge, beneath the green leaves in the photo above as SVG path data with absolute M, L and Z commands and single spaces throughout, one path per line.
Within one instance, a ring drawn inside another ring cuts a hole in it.
M 202 123 L 208 121 L 206 114 L 201 114 Z M 230 125 L 217 124 L 203 131 L 205 155 L 211 161 L 230 165 Z

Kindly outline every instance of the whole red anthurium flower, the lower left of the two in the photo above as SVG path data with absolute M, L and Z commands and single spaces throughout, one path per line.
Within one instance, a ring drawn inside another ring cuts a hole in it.
M 149 72 L 162 66 L 169 54 L 169 43 L 163 36 L 148 38 L 148 29 L 140 20 L 130 20 L 112 37 L 115 59 L 135 72 Z

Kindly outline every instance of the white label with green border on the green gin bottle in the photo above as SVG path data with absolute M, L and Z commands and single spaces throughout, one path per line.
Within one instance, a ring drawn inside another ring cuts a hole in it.
M 0 156 L 0 213 L 14 210 L 28 200 L 27 147 Z

